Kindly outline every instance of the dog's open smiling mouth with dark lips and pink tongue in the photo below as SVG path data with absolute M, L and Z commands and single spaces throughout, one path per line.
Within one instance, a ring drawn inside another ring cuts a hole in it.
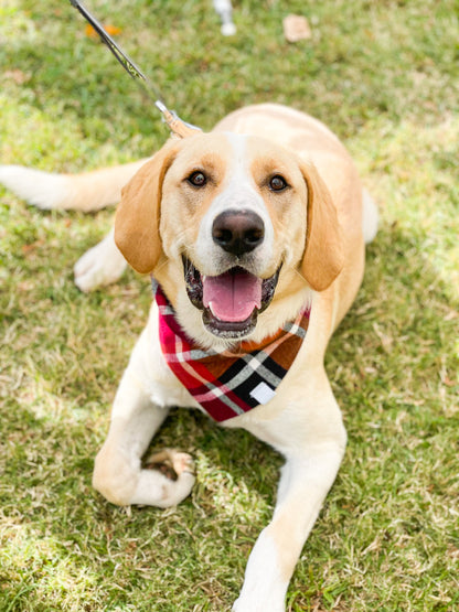
M 249 334 L 259 312 L 274 298 L 280 267 L 261 279 L 238 266 L 216 277 L 202 276 L 183 258 L 186 293 L 191 303 L 203 311 L 205 328 L 218 337 L 238 339 Z

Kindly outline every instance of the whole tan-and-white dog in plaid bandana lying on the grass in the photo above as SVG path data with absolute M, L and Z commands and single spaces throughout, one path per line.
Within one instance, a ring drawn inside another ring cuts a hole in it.
M 286 460 L 274 516 L 233 610 L 284 611 L 346 444 L 324 354 L 377 229 L 343 144 L 317 119 L 266 104 L 172 138 L 148 160 L 78 176 L 3 167 L 0 181 L 42 207 L 78 210 L 116 201 L 127 183 L 115 230 L 78 261 L 76 281 L 113 281 L 125 258 L 152 275 L 156 299 L 93 484 L 118 505 L 184 500 L 195 480 L 189 454 L 168 449 L 142 464 L 171 406 L 274 447 Z

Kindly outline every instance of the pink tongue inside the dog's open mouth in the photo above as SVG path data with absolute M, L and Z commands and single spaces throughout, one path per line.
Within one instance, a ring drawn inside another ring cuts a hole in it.
M 202 284 L 204 307 L 221 321 L 245 321 L 261 307 L 261 280 L 249 272 L 230 270 Z

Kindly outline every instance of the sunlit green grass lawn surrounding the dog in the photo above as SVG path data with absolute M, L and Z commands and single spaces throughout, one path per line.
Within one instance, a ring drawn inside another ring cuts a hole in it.
M 381 205 L 327 366 L 349 431 L 290 611 L 459 609 L 459 24 L 453 0 L 88 1 L 171 107 L 209 129 L 275 100 L 343 139 Z M 306 14 L 290 45 L 281 19 Z M 149 154 L 151 105 L 67 2 L 0 6 L 0 163 L 78 171 Z M 222 611 L 269 520 L 281 459 L 175 411 L 156 441 L 198 462 L 178 508 L 90 487 L 110 401 L 151 300 L 134 272 L 84 296 L 72 266 L 111 212 L 41 213 L 0 189 L 0 609 Z

